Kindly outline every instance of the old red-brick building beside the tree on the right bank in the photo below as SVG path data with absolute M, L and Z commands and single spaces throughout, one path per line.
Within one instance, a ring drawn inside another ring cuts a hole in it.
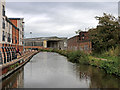
M 87 53 L 91 52 L 92 45 L 89 40 L 88 32 L 80 32 L 79 35 L 76 35 L 68 39 L 68 50 L 80 50 Z

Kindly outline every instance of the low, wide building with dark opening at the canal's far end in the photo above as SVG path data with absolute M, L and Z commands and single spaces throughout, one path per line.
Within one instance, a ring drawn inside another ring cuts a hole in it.
M 67 49 L 67 38 L 39 37 L 25 39 L 25 48 L 53 48 L 59 50 Z

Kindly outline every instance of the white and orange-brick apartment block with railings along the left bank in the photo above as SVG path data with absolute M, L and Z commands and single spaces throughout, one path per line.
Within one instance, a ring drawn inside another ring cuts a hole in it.
M 5 14 L 5 0 L 0 0 L 0 64 L 16 59 L 17 48 L 22 53 L 23 33 L 23 18 L 8 18 Z

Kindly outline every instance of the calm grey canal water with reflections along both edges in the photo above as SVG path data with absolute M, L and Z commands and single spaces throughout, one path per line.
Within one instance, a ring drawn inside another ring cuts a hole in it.
M 40 52 L 2 82 L 3 88 L 120 88 L 120 78 L 104 70 L 68 62 L 57 53 Z

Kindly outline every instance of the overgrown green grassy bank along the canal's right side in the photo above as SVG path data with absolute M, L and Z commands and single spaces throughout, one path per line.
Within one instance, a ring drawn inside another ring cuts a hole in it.
M 40 49 L 40 51 L 56 52 L 66 56 L 70 62 L 91 65 L 104 69 L 107 74 L 113 74 L 120 77 L 120 57 L 113 58 L 114 60 L 96 58 L 90 54 L 81 51 L 66 51 L 66 50 L 53 50 L 53 49 Z

